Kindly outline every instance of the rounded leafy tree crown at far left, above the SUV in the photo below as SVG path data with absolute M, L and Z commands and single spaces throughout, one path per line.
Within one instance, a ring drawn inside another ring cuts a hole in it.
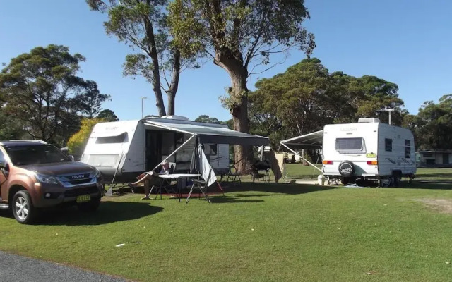
M 11 59 L 0 73 L 4 111 L 14 115 L 32 138 L 65 144 L 80 126 L 80 115 L 93 116 L 109 99 L 97 84 L 76 75 L 81 54 L 61 45 L 35 47 Z

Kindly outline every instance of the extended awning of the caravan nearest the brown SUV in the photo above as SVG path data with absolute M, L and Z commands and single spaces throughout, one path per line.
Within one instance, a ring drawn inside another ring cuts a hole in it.
M 196 123 L 185 121 L 152 121 L 146 120 L 145 125 L 157 128 L 196 135 L 200 143 L 230 144 L 230 145 L 268 145 L 268 137 L 241 133 L 230 130 L 226 125 L 215 123 Z

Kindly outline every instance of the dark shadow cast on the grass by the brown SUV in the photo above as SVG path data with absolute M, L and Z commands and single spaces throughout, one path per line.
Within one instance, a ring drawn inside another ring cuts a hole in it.
M 118 221 L 140 219 L 162 212 L 162 207 L 141 202 L 101 202 L 93 213 L 80 212 L 76 207 L 47 209 L 40 212 L 37 225 L 101 225 Z

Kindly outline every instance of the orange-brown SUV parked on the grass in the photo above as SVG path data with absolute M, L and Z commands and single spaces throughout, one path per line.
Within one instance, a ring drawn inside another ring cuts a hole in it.
M 44 207 L 76 204 L 85 212 L 99 207 L 102 175 L 38 140 L 0 142 L 0 209 L 12 209 L 20 223 L 32 223 Z

